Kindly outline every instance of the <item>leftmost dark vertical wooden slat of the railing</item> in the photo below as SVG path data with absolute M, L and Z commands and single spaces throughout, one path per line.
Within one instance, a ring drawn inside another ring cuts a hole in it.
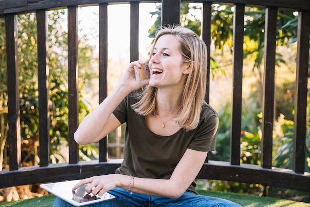
M 21 140 L 19 116 L 19 82 L 17 52 L 17 16 L 5 17 L 7 93 L 8 93 L 8 149 L 10 170 L 21 166 Z

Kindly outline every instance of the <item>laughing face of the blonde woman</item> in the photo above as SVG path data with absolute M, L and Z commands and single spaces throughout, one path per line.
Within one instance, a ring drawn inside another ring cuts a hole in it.
M 149 85 L 157 88 L 183 87 L 188 64 L 183 63 L 180 42 L 170 34 L 157 40 L 149 61 L 151 79 Z

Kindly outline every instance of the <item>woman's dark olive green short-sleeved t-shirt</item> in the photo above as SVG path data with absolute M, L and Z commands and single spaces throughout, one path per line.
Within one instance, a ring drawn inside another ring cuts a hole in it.
M 113 114 L 127 124 L 125 134 L 124 160 L 116 173 L 140 178 L 169 179 L 186 149 L 214 151 L 218 116 L 206 102 L 203 103 L 199 125 L 186 132 L 180 129 L 171 136 L 153 133 L 146 125 L 144 116 L 132 110 L 136 103 L 128 95 Z M 197 193 L 195 181 L 187 191 Z

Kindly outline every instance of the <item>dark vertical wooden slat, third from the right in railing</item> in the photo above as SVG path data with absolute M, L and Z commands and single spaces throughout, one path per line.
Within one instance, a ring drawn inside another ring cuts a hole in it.
M 242 112 L 242 71 L 243 71 L 243 41 L 244 41 L 244 8 L 236 4 L 233 26 L 233 88 L 230 134 L 230 162 L 240 165 L 240 138 Z

